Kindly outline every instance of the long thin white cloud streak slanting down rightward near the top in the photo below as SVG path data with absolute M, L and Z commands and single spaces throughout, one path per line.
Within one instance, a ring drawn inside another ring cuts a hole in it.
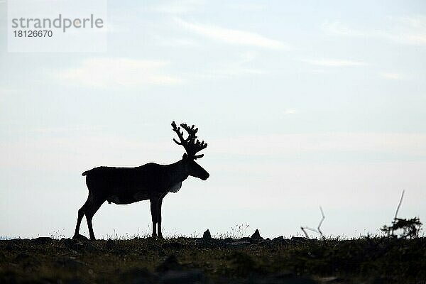
M 176 18 L 175 21 L 177 21 L 180 26 L 186 28 L 189 31 L 202 35 L 206 38 L 221 41 L 222 43 L 228 43 L 231 45 L 256 46 L 260 48 L 271 49 L 285 48 L 285 45 L 279 40 L 266 38 L 265 36 L 259 35 L 258 33 L 222 28 L 219 26 L 204 25 L 200 23 L 190 23 L 183 21 L 180 18 Z

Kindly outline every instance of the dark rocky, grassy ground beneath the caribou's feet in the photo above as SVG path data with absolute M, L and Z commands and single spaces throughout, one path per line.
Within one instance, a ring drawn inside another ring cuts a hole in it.
M 426 283 L 426 239 L 11 239 L 0 283 Z

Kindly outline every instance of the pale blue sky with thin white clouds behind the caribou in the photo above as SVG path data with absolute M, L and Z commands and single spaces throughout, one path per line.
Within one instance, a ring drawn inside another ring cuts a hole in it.
M 106 53 L 8 53 L 0 1 L 0 236 L 71 237 L 81 173 L 179 160 L 173 120 L 210 178 L 165 197 L 165 236 L 297 236 L 319 206 L 327 236 L 374 234 L 402 190 L 425 222 L 425 3 L 109 1 Z M 149 202 L 93 222 L 148 233 Z

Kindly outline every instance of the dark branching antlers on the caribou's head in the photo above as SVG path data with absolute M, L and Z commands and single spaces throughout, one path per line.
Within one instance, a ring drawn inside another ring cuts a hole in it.
M 172 122 L 173 131 L 175 131 L 176 134 L 178 134 L 180 142 L 178 142 L 175 138 L 173 138 L 173 141 L 175 141 L 176 144 L 182 145 L 183 148 L 185 148 L 185 151 L 189 158 L 192 158 L 193 160 L 197 158 L 202 158 L 204 154 L 200 154 L 200 155 L 195 155 L 195 154 L 202 151 L 202 149 L 206 148 L 207 143 L 204 143 L 204 141 L 200 142 L 200 140 L 198 139 L 195 140 L 197 138 L 195 134 L 197 134 L 198 129 L 195 128 L 194 125 L 189 127 L 186 124 L 180 124 L 180 126 L 182 127 L 182 129 L 185 129 L 185 131 L 187 131 L 188 137 L 186 139 L 183 138 L 183 131 L 180 131 L 180 127 L 176 127 L 175 121 L 173 121 Z

